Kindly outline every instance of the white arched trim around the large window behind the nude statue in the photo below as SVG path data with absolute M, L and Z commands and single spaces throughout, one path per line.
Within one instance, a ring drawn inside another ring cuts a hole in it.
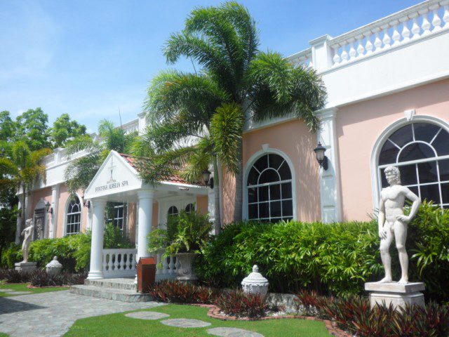
M 441 128 L 444 128 L 445 131 L 449 132 L 449 124 L 443 120 L 433 116 L 415 115 L 413 117 L 413 120 L 410 121 L 408 121 L 406 117 L 398 119 L 394 123 L 387 126 L 387 128 L 385 128 L 384 131 L 380 133 L 373 145 L 373 152 L 371 152 L 371 186 L 373 191 L 374 209 L 379 208 L 380 190 L 382 190 L 382 181 L 380 181 L 379 177 L 377 176 L 377 163 L 379 161 L 380 150 L 382 150 L 382 146 L 384 145 L 385 141 L 389 138 L 389 136 L 391 136 L 392 133 L 394 133 L 394 131 L 403 126 L 416 122 L 435 124 L 436 126 L 440 126 Z

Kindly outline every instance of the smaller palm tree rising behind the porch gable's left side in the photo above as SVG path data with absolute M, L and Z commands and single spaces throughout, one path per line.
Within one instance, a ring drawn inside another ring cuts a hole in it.
M 69 156 L 84 152 L 82 157 L 70 161 L 64 171 L 64 180 L 69 192 L 74 193 L 79 189 L 86 190 L 109 152 L 115 150 L 129 153 L 130 145 L 136 137 L 136 133 L 126 134 L 122 128 L 116 128 L 114 123 L 107 119 L 100 121 L 98 135 L 100 139 L 84 135 L 67 143 Z

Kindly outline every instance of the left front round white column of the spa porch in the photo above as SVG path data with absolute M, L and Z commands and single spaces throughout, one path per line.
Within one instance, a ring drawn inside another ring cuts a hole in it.
M 93 207 L 91 270 L 88 279 L 102 279 L 103 234 L 105 233 L 105 200 L 91 201 Z

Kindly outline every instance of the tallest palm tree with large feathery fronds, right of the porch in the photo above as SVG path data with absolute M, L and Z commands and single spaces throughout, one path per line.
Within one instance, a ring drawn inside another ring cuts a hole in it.
M 159 155 L 173 148 L 186 149 L 182 145 L 192 136 L 208 135 L 212 140 L 211 154 L 216 154 L 214 166 L 217 159 L 231 160 L 224 160 L 223 164 L 235 174 L 234 221 L 239 221 L 243 127 L 237 127 L 239 133 L 235 136 L 235 128 L 229 126 L 293 115 L 315 132 L 319 119 L 314 111 L 326 101 L 323 82 L 314 70 L 294 67 L 279 53 L 260 51 L 255 21 L 244 6 L 234 1 L 194 9 L 185 21 L 185 29 L 170 36 L 163 53 L 168 64 L 185 57 L 195 61 L 200 69 L 194 74 L 170 70 L 154 79 L 146 105 L 152 124 L 147 143 L 155 145 L 152 152 Z M 233 123 L 231 118 L 235 119 Z M 190 147 L 195 146 L 199 143 Z M 232 158 L 220 151 L 225 148 L 232 150 Z M 155 178 L 143 169 L 144 177 Z

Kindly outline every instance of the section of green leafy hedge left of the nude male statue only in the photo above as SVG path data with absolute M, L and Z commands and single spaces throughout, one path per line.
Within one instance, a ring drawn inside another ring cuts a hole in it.
M 358 292 L 379 275 L 378 245 L 375 223 L 237 223 L 203 249 L 197 271 L 213 286 L 234 288 L 257 264 L 270 291 Z

